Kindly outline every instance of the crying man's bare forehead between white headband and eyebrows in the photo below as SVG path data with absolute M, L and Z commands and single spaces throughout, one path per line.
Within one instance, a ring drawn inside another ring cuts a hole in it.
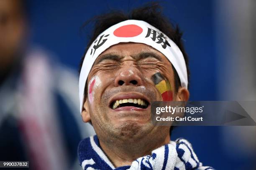
M 153 52 L 158 54 L 159 56 L 166 58 L 161 52 L 158 50 L 154 49 L 153 47 L 142 44 L 142 43 L 135 43 L 135 42 L 122 42 L 116 45 L 112 45 L 109 47 L 107 50 L 102 52 L 101 55 L 105 54 L 117 54 L 117 55 L 122 55 L 122 56 L 131 56 L 134 54 L 138 54 L 141 52 Z M 100 57 L 99 56 L 99 57 Z

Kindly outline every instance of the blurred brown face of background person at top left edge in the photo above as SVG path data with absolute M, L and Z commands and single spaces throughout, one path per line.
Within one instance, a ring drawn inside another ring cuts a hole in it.
M 15 53 L 24 44 L 26 22 L 21 3 L 0 0 L 0 70 L 15 60 Z

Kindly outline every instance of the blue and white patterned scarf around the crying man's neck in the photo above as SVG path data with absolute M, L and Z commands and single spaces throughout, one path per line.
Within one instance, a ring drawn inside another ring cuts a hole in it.
M 202 166 L 191 144 L 182 138 L 153 150 L 151 155 L 138 158 L 131 166 L 115 168 L 95 135 L 79 143 L 78 157 L 84 170 L 214 170 Z

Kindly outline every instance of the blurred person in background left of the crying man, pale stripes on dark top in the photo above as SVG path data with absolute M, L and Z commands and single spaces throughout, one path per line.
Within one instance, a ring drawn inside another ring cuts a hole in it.
M 0 0 L 0 161 L 76 169 L 79 140 L 93 134 L 81 132 L 77 76 L 28 45 L 27 10 L 25 0 Z

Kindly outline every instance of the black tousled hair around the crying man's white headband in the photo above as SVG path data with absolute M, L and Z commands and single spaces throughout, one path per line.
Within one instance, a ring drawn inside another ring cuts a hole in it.
M 179 26 L 176 25 L 175 27 L 172 23 L 169 22 L 168 18 L 166 18 L 162 14 L 162 7 L 157 2 L 150 2 L 143 7 L 138 7 L 133 9 L 130 13 L 123 13 L 122 11 L 111 11 L 110 13 L 97 15 L 91 20 L 88 20 L 84 23 L 83 27 L 88 25 L 88 23 L 94 23 L 94 29 L 92 33 L 92 37 L 90 37 L 90 41 L 87 44 L 86 50 L 80 62 L 80 69 L 82 68 L 82 63 L 84 60 L 84 56 L 92 44 L 92 42 L 97 38 L 100 33 L 105 31 L 106 29 L 110 28 L 112 25 L 120 23 L 125 20 L 143 20 L 150 25 L 158 28 L 161 32 L 167 35 L 174 43 L 179 47 L 181 50 L 184 60 L 186 62 L 187 67 L 187 75 L 189 79 L 189 68 L 188 68 L 188 57 L 187 53 L 184 50 L 184 45 L 182 42 L 182 32 L 179 29 Z M 178 88 L 181 86 L 181 82 L 177 71 L 174 69 L 174 82 L 175 82 L 175 92 L 178 91 Z

